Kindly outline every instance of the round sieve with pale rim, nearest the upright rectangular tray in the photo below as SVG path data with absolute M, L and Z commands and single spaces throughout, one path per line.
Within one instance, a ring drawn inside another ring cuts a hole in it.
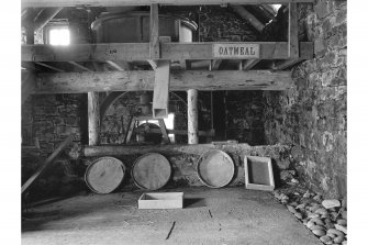
M 209 151 L 197 162 L 197 174 L 201 182 L 211 188 L 224 187 L 234 177 L 234 163 L 224 152 Z

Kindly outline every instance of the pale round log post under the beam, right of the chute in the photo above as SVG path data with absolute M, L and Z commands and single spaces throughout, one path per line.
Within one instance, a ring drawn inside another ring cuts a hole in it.
M 198 144 L 198 90 L 188 91 L 188 144 Z

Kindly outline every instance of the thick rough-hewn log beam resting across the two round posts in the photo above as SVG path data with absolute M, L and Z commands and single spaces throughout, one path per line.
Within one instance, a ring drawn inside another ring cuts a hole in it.
M 38 74 L 35 93 L 153 91 L 154 80 L 153 70 Z M 290 71 L 172 70 L 170 74 L 170 91 L 286 90 L 292 87 Z

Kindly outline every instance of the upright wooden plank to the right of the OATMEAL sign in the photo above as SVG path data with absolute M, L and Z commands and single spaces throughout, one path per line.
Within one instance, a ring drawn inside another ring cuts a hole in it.
M 299 38 L 298 38 L 298 9 L 297 3 L 289 3 L 289 48 L 290 58 L 299 58 Z

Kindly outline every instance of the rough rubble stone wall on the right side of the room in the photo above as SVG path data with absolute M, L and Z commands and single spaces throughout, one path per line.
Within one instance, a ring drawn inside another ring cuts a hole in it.
M 315 58 L 292 69 L 295 88 L 265 92 L 268 144 L 293 145 L 304 182 L 328 197 L 346 196 L 346 1 L 300 8 L 300 36 Z

